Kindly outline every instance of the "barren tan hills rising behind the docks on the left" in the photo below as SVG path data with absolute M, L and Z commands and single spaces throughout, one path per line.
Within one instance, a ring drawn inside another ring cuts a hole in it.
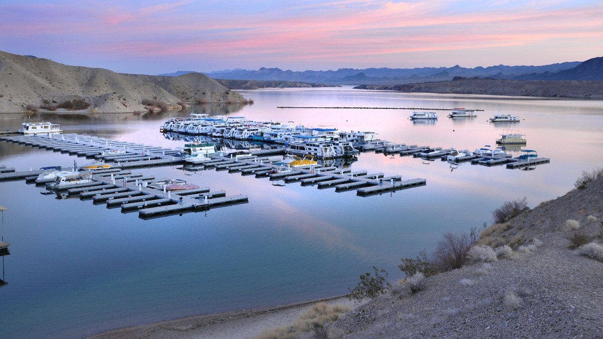
M 120 74 L 0 51 L 0 113 L 52 110 L 73 100 L 83 100 L 91 112 L 182 109 L 186 102 L 247 102 L 200 73 L 180 77 Z

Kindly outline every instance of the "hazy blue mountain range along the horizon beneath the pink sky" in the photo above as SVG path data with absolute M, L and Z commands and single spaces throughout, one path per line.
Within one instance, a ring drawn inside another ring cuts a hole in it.
M 279 68 L 260 68 L 257 71 L 233 69 L 205 73 L 215 79 L 281 80 L 323 84 L 406 84 L 425 81 L 445 81 L 454 77 L 491 77 L 511 79 L 525 74 L 559 72 L 578 66 L 580 62 L 555 63 L 545 66 L 488 66 L 463 68 L 340 68 L 336 71 L 283 71 Z

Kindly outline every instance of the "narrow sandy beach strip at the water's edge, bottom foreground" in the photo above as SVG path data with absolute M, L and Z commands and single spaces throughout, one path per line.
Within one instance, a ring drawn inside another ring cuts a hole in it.
M 252 338 L 259 335 L 263 329 L 273 329 L 293 323 L 310 306 L 319 302 L 347 305 L 352 309 L 365 303 L 365 301 L 349 300 L 347 295 L 342 295 L 285 305 L 192 315 L 111 329 L 84 338 Z

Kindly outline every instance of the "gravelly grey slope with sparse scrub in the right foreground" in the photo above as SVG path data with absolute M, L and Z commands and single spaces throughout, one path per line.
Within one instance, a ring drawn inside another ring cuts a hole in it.
M 541 203 L 493 231 L 514 243 L 513 251 L 430 276 L 415 293 L 405 282 L 395 284 L 325 332 L 337 338 L 601 338 L 603 262 L 568 247 L 579 234 L 603 241 L 602 194 L 599 177 Z

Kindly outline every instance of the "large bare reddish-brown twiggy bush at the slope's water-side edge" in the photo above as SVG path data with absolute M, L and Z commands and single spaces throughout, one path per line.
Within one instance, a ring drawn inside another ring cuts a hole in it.
M 467 259 L 467 252 L 473 241 L 467 233 L 455 235 L 444 234 L 434 254 L 434 266 L 440 271 L 449 271 L 461 268 Z

